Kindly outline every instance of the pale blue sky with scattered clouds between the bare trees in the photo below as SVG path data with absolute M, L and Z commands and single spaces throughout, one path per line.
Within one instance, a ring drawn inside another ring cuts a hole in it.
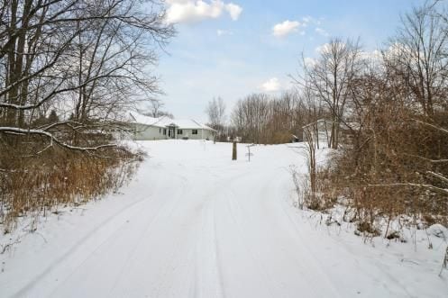
M 166 2 L 178 34 L 160 54 L 160 99 L 177 118 L 206 121 L 214 96 L 230 113 L 245 95 L 287 90 L 301 53 L 315 57 L 330 37 L 360 37 L 365 50 L 383 47 L 400 14 L 423 0 Z

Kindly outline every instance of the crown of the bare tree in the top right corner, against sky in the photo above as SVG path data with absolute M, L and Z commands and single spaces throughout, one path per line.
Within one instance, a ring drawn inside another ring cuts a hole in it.
M 439 1 L 426 1 L 401 18 L 401 27 L 385 53 L 389 71 L 408 87 L 422 113 L 446 106 L 448 22 Z

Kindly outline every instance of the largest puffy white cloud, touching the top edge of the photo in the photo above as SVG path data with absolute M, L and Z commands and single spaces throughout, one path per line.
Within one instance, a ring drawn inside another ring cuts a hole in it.
M 238 20 L 242 7 L 222 0 L 167 0 L 167 23 L 194 23 L 219 18 L 227 12 L 233 21 Z

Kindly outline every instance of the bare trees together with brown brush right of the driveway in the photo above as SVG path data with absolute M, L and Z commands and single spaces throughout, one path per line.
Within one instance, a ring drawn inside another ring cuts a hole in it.
M 323 104 L 338 149 L 314 169 L 314 208 L 345 198 L 348 221 L 378 232 L 379 221 L 448 223 L 448 13 L 427 2 L 402 17 L 384 50 L 333 39 L 304 59 L 302 92 Z M 350 142 L 341 139 L 342 128 Z M 389 235 L 385 235 L 389 237 Z

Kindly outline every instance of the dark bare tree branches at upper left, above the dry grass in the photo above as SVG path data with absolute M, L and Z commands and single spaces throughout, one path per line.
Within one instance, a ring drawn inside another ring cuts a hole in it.
M 58 127 L 97 129 L 114 122 L 139 93 L 158 92 L 147 69 L 157 59 L 154 45 L 173 34 L 158 1 L 5 1 L 1 11 L 2 134 L 32 129 L 45 139 Z M 49 107 L 73 116 L 50 128 L 33 127 Z

